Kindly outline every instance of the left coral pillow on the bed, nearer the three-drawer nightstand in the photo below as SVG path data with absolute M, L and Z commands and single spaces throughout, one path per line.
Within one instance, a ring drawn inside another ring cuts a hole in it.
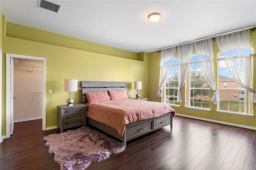
M 110 101 L 110 97 L 107 91 L 95 91 L 85 93 L 88 103 L 98 103 L 102 101 Z

